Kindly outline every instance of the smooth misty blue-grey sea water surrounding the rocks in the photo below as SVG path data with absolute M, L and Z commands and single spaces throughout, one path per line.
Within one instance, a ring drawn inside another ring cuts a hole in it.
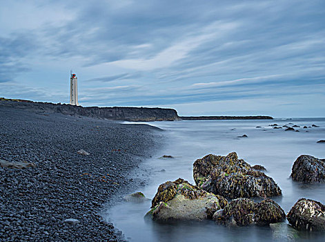
M 299 125 L 299 132 L 273 129 L 269 124 Z M 290 124 L 289 124 L 290 123 Z M 325 204 L 325 184 L 306 185 L 293 182 L 289 176 L 296 158 L 309 154 L 325 158 L 325 118 L 293 118 L 275 120 L 206 120 L 181 122 L 148 122 L 164 129 L 166 145 L 157 156 L 144 161 L 141 169 L 148 174 L 143 192 L 152 199 L 161 183 L 184 178 L 193 180 L 193 162 L 213 153 L 226 156 L 235 151 L 250 165 L 263 165 L 266 174 L 282 189 L 274 197 L 288 213 L 299 198 L 311 198 Z M 311 127 L 316 124 L 319 127 Z M 302 127 L 307 126 L 308 129 Z M 256 128 L 260 126 L 262 128 Z M 239 138 L 246 134 L 248 138 Z M 163 155 L 175 158 L 159 158 Z M 139 174 L 137 175 L 139 176 Z M 157 223 L 144 220 L 151 201 L 118 203 L 106 212 L 107 219 L 124 233 L 128 241 L 325 241 L 325 233 L 296 232 L 284 223 L 281 228 L 224 227 L 213 221 Z

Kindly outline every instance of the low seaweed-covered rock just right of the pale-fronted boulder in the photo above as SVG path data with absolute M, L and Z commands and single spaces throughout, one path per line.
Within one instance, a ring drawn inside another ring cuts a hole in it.
M 256 203 L 248 198 L 230 201 L 224 210 L 213 214 L 213 220 L 223 225 L 268 225 L 284 221 L 284 210 L 270 199 Z

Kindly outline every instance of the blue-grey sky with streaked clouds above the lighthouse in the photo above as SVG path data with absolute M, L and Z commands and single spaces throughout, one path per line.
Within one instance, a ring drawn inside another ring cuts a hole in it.
M 0 97 L 325 117 L 325 1 L 0 0 Z

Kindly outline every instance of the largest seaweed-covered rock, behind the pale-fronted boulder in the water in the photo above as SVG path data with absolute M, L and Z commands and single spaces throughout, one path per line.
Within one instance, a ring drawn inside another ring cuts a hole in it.
M 227 198 L 264 198 L 282 194 L 272 178 L 239 160 L 235 152 L 228 156 L 210 154 L 195 160 L 193 177 L 201 189 Z

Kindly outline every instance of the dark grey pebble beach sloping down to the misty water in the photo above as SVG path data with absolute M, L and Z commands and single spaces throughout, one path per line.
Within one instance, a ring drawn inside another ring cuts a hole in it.
M 157 148 L 155 130 L 0 106 L 0 159 L 36 164 L 0 167 L 0 241 L 121 241 L 99 213 L 144 184 L 130 173 Z

